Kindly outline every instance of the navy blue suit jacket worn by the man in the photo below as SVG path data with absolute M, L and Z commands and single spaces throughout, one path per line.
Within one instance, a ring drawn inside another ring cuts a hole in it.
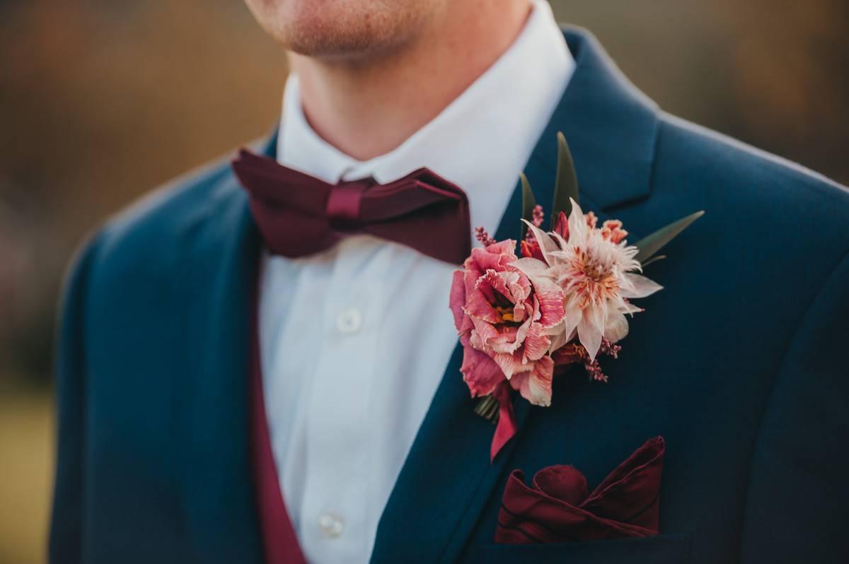
M 706 215 L 649 267 L 666 289 L 641 302 L 610 383 L 572 371 L 551 407 L 517 401 L 519 433 L 494 464 L 456 351 L 372 561 L 846 561 L 849 193 L 665 114 L 592 36 L 565 35 L 577 69 L 526 165 L 537 200 L 551 201 L 563 131 L 582 206 L 632 240 Z M 498 238 L 515 237 L 520 200 Z M 261 562 L 246 376 L 259 244 L 223 161 L 107 222 L 78 255 L 59 334 L 52 561 Z M 655 435 L 660 536 L 492 544 L 510 470 L 573 464 L 599 483 Z

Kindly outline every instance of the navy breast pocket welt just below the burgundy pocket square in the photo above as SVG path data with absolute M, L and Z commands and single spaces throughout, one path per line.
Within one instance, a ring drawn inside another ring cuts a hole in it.
M 486 544 L 486 564 L 686 564 L 689 533 L 588 543 Z

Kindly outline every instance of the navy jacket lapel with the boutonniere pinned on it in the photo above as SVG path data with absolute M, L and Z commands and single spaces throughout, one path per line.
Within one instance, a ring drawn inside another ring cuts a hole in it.
M 604 209 L 649 195 L 656 109 L 593 36 L 569 28 L 565 37 L 576 70 L 525 172 L 537 203 L 548 212 L 557 167 L 555 136 L 563 131 L 575 159 L 583 207 L 604 219 Z M 517 184 L 496 238 L 518 237 L 520 215 Z M 458 346 L 402 467 L 380 519 L 374 564 L 456 561 L 522 438 L 528 416 L 543 409 L 514 400 L 519 431 L 490 464 L 494 427 L 474 414 L 475 400 L 460 376 L 462 357 Z

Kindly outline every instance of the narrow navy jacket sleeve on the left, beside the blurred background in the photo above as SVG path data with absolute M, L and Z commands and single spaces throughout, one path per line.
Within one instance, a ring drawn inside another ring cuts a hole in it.
M 85 319 L 88 282 L 97 239 L 82 248 L 65 278 L 59 307 L 54 364 L 58 422 L 53 515 L 50 521 L 50 562 L 82 561 L 85 530 Z

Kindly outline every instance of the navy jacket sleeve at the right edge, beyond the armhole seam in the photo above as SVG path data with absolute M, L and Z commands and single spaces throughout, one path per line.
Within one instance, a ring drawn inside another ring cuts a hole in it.
M 847 511 L 849 254 L 785 352 L 752 455 L 740 562 L 849 561 Z

